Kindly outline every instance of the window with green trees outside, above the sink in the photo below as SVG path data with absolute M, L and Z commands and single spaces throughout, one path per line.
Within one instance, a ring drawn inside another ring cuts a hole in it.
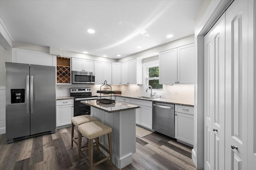
M 163 89 L 163 85 L 159 84 L 159 66 L 148 68 L 147 84 L 153 89 Z

